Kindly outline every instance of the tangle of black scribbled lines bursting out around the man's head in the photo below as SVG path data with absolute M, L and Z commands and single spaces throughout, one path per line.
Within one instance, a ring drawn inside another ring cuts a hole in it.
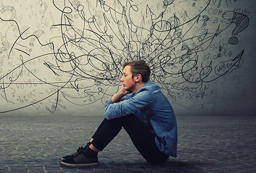
M 173 2 L 174 1 L 170 1 L 163 4 L 167 7 Z M 3 89 L 5 92 L 5 89 L 11 86 L 11 84 L 32 84 L 28 82 L 15 82 L 21 76 L 22 69 L 24 68 L 39 81 L 38 83 L 33 82 L 33 84 L 54 86 L 57 88 L 55 92 L 57 98 L 54 103 L 55 106 L 53 106 L 53 112 L 56 112 L 58 106 L 60 106 L 59 93 L 72 104 L 88 105 L 98 100 L 101 100 L 103 103 L 105 98 L 111 96 L 108 89 L 110 87 L 118 88 L 119 86 L 119 77 L 122 75 L 122 64 L 125 61 L 144 59 L 151 66 L 151 80 L 157 82 L 163 89 L 166 89 L 169 94 L 169 99 L 177 104 L 179 103 L 175 96 L 175 91 L 172 90 L 190 92 L 194 95 L 204 94 L 205 90 L 200 91 L 199 88 L 231 72 L 234 70 L 234 67 L 240 67 L 242 64 L 241 57 L 244 54 L 243 50 L 233 59 L 234 63 L 232 63 L 232 67 L 226 69 L 222 74 L 218 74 L 217 77 L 215 77 L 212 71 L 212 59 L 205 59 L 199 64 L 199 60 L 201 59 L 201 57 L 199 57 L 200 54 L 204 54 L 205 56 L 205 51 L 209 49 L 213 41 L 215 41 L 224 30 L 232 26 L 231 22 L 224 28 L 221 28 L 220 25 L 217 26 L 215 33 L 209 33 L 207 28 L 204 32 L 201 31 L 201 33 L 199 33 L 199 30 L 206 26 L 204 22 L 191 37 L 187 36 L 188 33 L 193 32 L 193 28 L 201 22 L 201 15 L 206 11 L 210 2 L 211 1 L 208 1 L 204 9 L 192 19 L 188 18 L 189 20 L 183 20 L 183 22 L 181 22 L 176 14 L 166 19 L 165 11 L 167 8 L 164 8 L 163 11 L 157 14 L 153 12 L 149 5 L 146 5 L 146 10 L 148 10 L 149 13 L 146 12 L 140 24 L 137 25 L 133 22 L 132 13 L 138 12 L 141 9 L 139 9 L 137 5 L 133 5 L 132 1 L 127 1 L 126 4 L 115 1 L 113 7 L 107 5 L 107 2 L 97 1 L 96 6 L 102 10 L 102 14 L 98 14 L 101 17 L 100 20 L 102 20 L 100 21 L 96 18 L 96 15 L 90 11 L 89 1 L 86 1 L 87 9 L 79 2 L 71 2 L 70 0 L 65 1 L 63 9 L 60 9 L 57 6 L 57 2 L 53 0 L 53 5 L 61 13 L 60 23 L 50 25 L 51 29 L 60 27 L 61 36 L 51 38 L 60 38 L 62 40 L 62 44 L 59 45 L 58 48 L 51 39 L 49 43 L 42 44 L 35 35 L 23 37 L 26 30 L 21 33 L 17 22 L 14 20 L 5 20 L 5 22 L 15 22 L 19 30 L 19 37 L 12 45 L 8 58 L 12 50 L 18 50 L 30 56 L 29 53 L 15 48 L 16 44 L 26 48 L 26 46 L 19 44 L 18 40 L 26 40 L 30 37 L 35 37 L 43 46 L 48 45 L 51 49 L 51 53 L 42 53 L 42 55 L 32 57 L 26 61 L 24 61 L 23 56 L 20 55 L 20 65 L 17 65 L 17 67 L 0 78 L 0 80 L 3 79 L 3 87 L 1 86 L 0 89 Z M 69 17 L 69 14 L 73 12 L 79 14 L 81 23 L 78 28 L 75 27 L 75 20 Z M 145 17 L 150 18 L 149 22 L 151 24 L 148 28 L 145 28 Z M 248 24 L 249 20 L 246 22 Z M 185 30 L 185 25 L 189 25 L 187 30 Z M 246 28 L 247 26 L 244 27 Z M 70 35 L 69 30 L 72 30 L 74 34 Z M 86 37 L 86 34 L 89 34 L 91 38 Z M 195 45 L 192 45 L 190 41 Z M 74 51 L 71 45 L 79 51 Z M 179 46 L 181 46 L 180 50 L 177 49 Z M 63 82 L 49 82 L 41 79 L 37 74 L 33 74 L 31 70 L 26 67 L 27 63 L 31 62 L 33 59 L 47 55 L 52 55 L 52 58 L 54 58 L 53 61 L 55 62 L 43 60 L 43 65 L 45 65 L 54 76 L 61 77 L 64 75 L 68 79 Z M 205 66 L 207 62 L 208 65 Z M 65 65 L 68 66 L 69 69 L 64 69 L 63 67 Z M 8 75 L 11 75 L 12 72 L 18 70 L 18 68 L 21 68 L 21 71 L 18 75 L 16 74 L 17 78 L 12 79 L 10 77 L 9 82 L 4 82 L 4 77 L 8 77 Z M 89 80 L 92 84 L 82 87 L 80 82 L 86 83 L 86 80 Z M 84 91 L 82 91 L 84 96 L 72 96 L 62 91 L 62 89 L 74 89 L 77 93 L 84 89 Z M 86 100 L 88 97 L 92 100 Z M 72 99 L 76 100 L 78 98 L 83 99 L 84 103 L 79 104 L 72 101 Z M 7 97 L 6 100 L 9 101 Z M 179 105 L 183 106 L 182 104 Z M 199 109 L 201 108 L 203 108 L 203 105 Z

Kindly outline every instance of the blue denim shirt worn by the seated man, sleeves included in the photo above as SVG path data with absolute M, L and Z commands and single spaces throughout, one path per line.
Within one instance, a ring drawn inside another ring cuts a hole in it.
M 136 115 L 155 135 L 159 150 L 176 157 L 177 122 L 170 102 L 160 89 L 147 81 L 135 94 L 130 93 L 117 103 L 110 98 L 104 105 L 104 115 L 106 119 Z

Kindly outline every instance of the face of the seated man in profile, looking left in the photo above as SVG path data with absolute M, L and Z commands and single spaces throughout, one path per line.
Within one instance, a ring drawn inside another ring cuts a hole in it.
M 135 76 L 132 78 L 131 66 L 125 66 L 123 76 L 120 78 L 126 90 L 133 91 L 135 89 L 136 81 Z

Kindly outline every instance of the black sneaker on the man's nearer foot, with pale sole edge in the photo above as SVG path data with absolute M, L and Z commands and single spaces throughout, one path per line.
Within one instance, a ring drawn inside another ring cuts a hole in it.
M 83 166 L 96 166 L 99 164 L 98 156 L 95 158 L 86 158 L 83 151 L 78 150 L 78 154 L 73 158 L 64 159 L 60 162 L 62 166 L 67 167 L 83 167 Z

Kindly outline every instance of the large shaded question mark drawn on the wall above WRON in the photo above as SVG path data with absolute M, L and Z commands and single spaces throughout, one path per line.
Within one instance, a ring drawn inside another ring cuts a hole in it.
M 232 15 L 233 17 L 230 18 L 228 15 Z M 232 37 L 228 39 L 228 42 L 230 44 L 238 44 L 238 38 L 236 37 L 238 33 L 242 32 L 245 28 L 248 27 L 250 20 L 247 17 L 247 15 L 239 13 L 239 12 L 234 12 L 234 11 L 228 11 L 225 12 L 222 17 L 227 20 L 231 20 L 231 23 L 236 24 L 235 29 L 232 31 Z

